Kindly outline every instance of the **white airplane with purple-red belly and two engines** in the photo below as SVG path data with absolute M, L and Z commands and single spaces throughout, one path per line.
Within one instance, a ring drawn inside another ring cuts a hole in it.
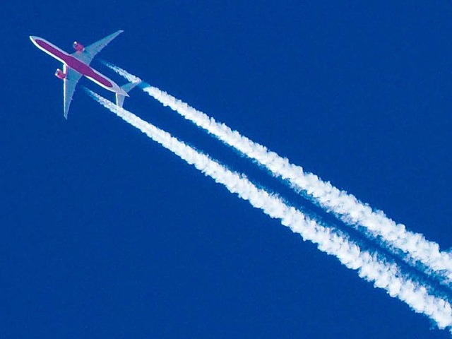
M 138 85 L 138 83 L 126 83 L 126 85 L 120 87 L 117 83 L 107 78 L 107 76 L 104 76 L 102 73 L 90 67 L 90 63 L 96 54 L 122 32 L 124 31 L 118 30 L 87 47 L 84 47 L 83 44 L 75 41 L 73 42 L 73 49 L 75 49 L 76 52 L 73 52 L 72 54 L 64 52 L 51 42 L 42 39 L 42 37 L 30 35 L 30 40 L 37 48 L 63 63 L 63 71 L 57 69 L 55 76 L 63 81 L 63 110 L 66 119 L 68 119 L 69 105 L 71 105 L 73 93 L 82 76 L 85 76 L 90 79 L 90 81 L 97 83 L 97 85 L 100 85 L 106 90 L 114 92 L 116 94 L 116 103 L 119 107 L 122 107 L 124 104 L 125 97 L 129 97 L 129 94 L 127 93 Z

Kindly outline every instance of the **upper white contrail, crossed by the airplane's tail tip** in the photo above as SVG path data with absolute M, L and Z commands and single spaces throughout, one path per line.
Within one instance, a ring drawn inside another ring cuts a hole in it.
M 118 66 L 107 62 L 105 65 L 129 81 L 140 80 Z M 287 158 L 251 141 L 238 131 L 233 131 L 227 125 L 215 121 L 212 117 L 208 117 L 207 114 L 190 107 L 172 95 L 150 85 L 142 87 L 146 93 L 161 102 L 162 105 L 169 106 L 223 143 L 256 160 L 275 177 L 287 179 L 292 189 L 303 191 L 311 201 L 334 213 L 343 222 L 355 228 L 359 225 L 366 227 L 367 234 L 370 233 L 374 238 L 381 237 L 380 241 L 386 242 L 389 247 L 395 247 L 405 252 L 412 259 L 411 261 L 423 263 L 429 268 L 429 273 L 432 273 L 431 270 L 433 270 L 437 278 L 446 280 L 444 283 L 452 283 L 452 256 L 447 252 L 440 251 L 439 244 L 436 242 L 425 239 L 422 234 L 406 230 L 405 225 L 396 224 L 386 217 L 383 211 L 373 211 L 352 194 L 337 189 L 330 182 L 323 182 L 315 174 L 304 172 L 303 167 L 291 164 Z

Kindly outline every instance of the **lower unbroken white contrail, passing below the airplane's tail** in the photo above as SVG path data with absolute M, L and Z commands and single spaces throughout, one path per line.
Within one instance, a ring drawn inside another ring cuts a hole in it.
M 429 294 L 426 287 L 405 277 L 395 263 L 386 263 L 377 258 L 376 254 L 362 251 L 357 244 L 350 242 L 347 237 L 340 237 L 333 230 L 319 225 L 299 210 L 287 206 L 278 196 L 258 189 L 244 175 L 230 171 L 207 155 L 199 153 L 194 148 L 174 138 L 166 131 L 162 131 L 131 112 L 117 107 L 113 102 L 93 91 L 87 89 L 87 92 L 101 105 L 145 133 L 153 141 L 160 143 L 190 165 L 194 165 L 196 169 L 214 179 L 215 182 L 224 185 L 232 194 L 237 194 L 240 198 L 249 201 L 251 206 L 263 210 L 263 213 L 266 213 L 270 218 L 279 219 L 283 225 L 290 227 L 292 232 L 301 234 L 304 241 L 309 240 L 317 244 L 321 251 L 337 257 L 347 268 L 357 270 L 361 278 L 374 283 L 375 287 L 386 290 L 391 297 L 402 300 L 417 313 L 425 314 L 439 328 L 451 328 L 451 304 L 441 297 Z

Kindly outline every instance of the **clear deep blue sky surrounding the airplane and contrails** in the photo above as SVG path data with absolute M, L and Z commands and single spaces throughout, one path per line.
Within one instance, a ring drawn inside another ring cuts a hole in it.
M 102 59 L 448 249 L 451 12 L 448 1 L 4 8 L 0 337 L 448 338 L 81 88 L 64 120 L 61 65 L 28 36 L 69 52 L 124 29 Z M 140 90 L 125 106 L 311 208 Z

